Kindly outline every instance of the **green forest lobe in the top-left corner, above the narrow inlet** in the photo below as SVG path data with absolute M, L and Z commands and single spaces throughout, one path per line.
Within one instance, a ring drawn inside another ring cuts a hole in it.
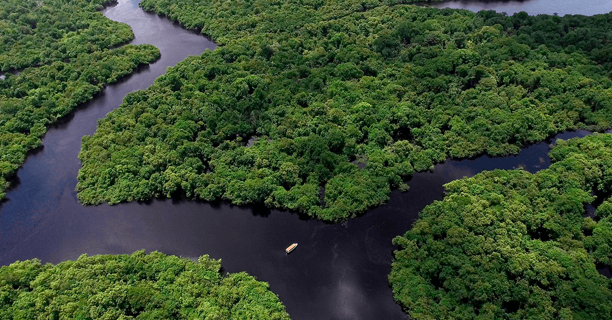
M 0 71 L 74 59 L 132 40 L 132 29 L 102 15 L 109 0 L 0 2 Z

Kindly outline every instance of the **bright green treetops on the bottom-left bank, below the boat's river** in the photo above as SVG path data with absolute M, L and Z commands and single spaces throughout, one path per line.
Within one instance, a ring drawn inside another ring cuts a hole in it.
M 221 260 L 82 255 L 53 266 L 38 260 L 0 268 L 2 319 L 288 320 L 267 283 L 221 274 Z

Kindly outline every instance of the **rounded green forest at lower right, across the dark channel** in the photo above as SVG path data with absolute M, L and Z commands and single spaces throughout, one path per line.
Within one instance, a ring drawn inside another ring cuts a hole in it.
M 446 184 L 394 239 L 389 280 L 413 319 L 612 319 L 612 135 L 558 140 L 536 174 L 495 170 Z

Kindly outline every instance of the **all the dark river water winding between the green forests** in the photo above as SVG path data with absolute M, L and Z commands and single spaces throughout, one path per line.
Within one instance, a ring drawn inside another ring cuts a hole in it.
M 117 108 L 128 92 L 145 89 L 166 67 L 188 55 L 215 48 L 201 35 L 143 12 L 137 2 L 122 0 L 103 12 L 132 26 L 136 35 L 132 43 L 160 48 L 161 58 L 106 87 L 99 97 L 50 128 L 44 147 L 28 156 L 15 187 L 7 192 L 8 200 L 0 206 L 0 265 L 31 258 L 58 263 L 82 253 L 132 253 L 143 248 L 188 258 L 209 254 L 223 259 L 227 272 L 244 270 L 267 281 L 295 320 L 405 319 L 387 284 L 395 249 L 391 239 L 405 233 L 427 204 L 442 198 L 446 182 L 495 168 L 522 166 L 535 172 L 550 165 L 547 152 L 554 139 L 512 157 L 449 160 L 436 165 L 433 173 L 417 173 L 408 182 L 409 192 L 394 192 L 384 206 L 333 225 L 277 210 L 176 199 L 81 206 L 75 192 L 81 137 L 94 133 L 97 119 Z M 479 9 L 476 2 L 450 2 L 461 3 Z M 531 3 L 539 4 L 534 8 L 569 13 L 570 2 L 565 0 L 482 6 L 512 12 L 528 10 Z M 580 2 L 574 12 L 612 10 L 610 1 L 592 1 L 590 7 L 589 3 Z M 586 7 L 590 11 L 583 11 Z M 540 9 L 530 13 L 542 13 Z M 566 132 L 555 138 L 587 134 Z M 299 247 L 286 255 L 285 247 L 293 242 Z

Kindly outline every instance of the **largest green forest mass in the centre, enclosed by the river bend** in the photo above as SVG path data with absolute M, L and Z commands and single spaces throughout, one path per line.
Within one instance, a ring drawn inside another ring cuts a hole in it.
M 84 138 L 80 200 L 183 194 L 345 220 L 447 157 L 610 127 L 612 15 L 390 4 L 143 0 L 221 46 Z

